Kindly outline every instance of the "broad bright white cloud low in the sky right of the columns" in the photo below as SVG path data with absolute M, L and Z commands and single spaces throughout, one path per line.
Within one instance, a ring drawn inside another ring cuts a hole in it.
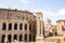
M 52 11 L 43 11 L 44 15 L 50 15 L 50 16 L 54 16 L 54 15 L 65 15 L 65 9 L 61 9 L 57 12 L 52 12 Z

